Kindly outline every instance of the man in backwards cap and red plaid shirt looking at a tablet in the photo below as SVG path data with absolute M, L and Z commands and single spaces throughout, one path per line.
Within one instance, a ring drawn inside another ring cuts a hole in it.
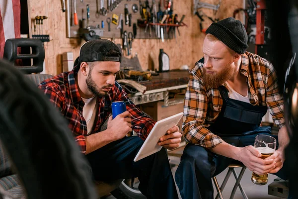
M 177 126 L 169 129 L 158 142 L 162 150 L 133 161 L 155 122 L 115 81 L 120 62 L 121 51 L 113 42 L 88 41 L 81 46 L 71 72 L 48 79 L 39 88 L 68 120 L 95 180 L 139 177 L 139 190 L 148 199 L 177 199 L 165 148 L 178 147 L 181 133 Z M 125 101 L 127 111 L 112 119 L 113 101 Z M 126 137 L 132 130 L 138 136 Z

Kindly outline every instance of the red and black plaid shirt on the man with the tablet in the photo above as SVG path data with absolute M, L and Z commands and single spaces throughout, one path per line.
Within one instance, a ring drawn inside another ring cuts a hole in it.
M 39 88 L 50 101 L 60 109 L 61 113 L 69 122 L 69 128 L 75 136 L 75 141 L 81 147 L 82 153 L 86 152 L 87 124 L 83 117 L 84 102 L 81 99 L 77 85 L 75 84 L 74 74 L 77 73 L 77 67 L 71 72 L 65 72 L 53 78 L 43 81 Z M 121 86 L 115 82 L 115 85 L 105 97 L 97 97 L 98 112 L 94 121 L 92 133 L 97 133 L 102 124 L 111 113 L 112 101 L 125 101 L 126 108 L 131 114 L 132 128 L 139 137 L 145 140 L 150 130 L 155 124 L 148 115 L 142 112 L 127 96 Z M 105 106 L 106 104 L 106 106 Z

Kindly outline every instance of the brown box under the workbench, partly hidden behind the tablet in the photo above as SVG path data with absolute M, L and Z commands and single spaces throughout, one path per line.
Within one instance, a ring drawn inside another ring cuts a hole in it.
M 163 101 L 150 102 L 141 105 L 141 109 L 146 112 L 153 120 L 158 121 L 164 119 L 166 117 L 172 116 L 179 112 L 183 112 L 184 103 L 178 103 L 176 105 L 164 106 Z M 177 126 L 179 127 L 179 131 L 181 132 L 182 120 L 180 119 Z

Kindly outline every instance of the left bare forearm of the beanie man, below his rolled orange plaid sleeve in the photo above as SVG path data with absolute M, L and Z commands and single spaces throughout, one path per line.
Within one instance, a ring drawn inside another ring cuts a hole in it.
M 211 152 L 222 155 L 227 158 L 232 158 L 237 160 L 237 154 L 239 153 L 240 148 L 230 145 L 226 142 L 218 144 L 216 147 L 210 149 Z

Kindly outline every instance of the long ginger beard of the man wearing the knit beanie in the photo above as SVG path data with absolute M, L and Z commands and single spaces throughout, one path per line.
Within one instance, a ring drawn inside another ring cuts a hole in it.
M 229 80 L 233 76 L 233 69 L 230 64 L 224 66 L 224 68 L 217 73 L 208 74 L 206 69 L 203 68 L 203 81 L 210 88 L 218 88 Z

